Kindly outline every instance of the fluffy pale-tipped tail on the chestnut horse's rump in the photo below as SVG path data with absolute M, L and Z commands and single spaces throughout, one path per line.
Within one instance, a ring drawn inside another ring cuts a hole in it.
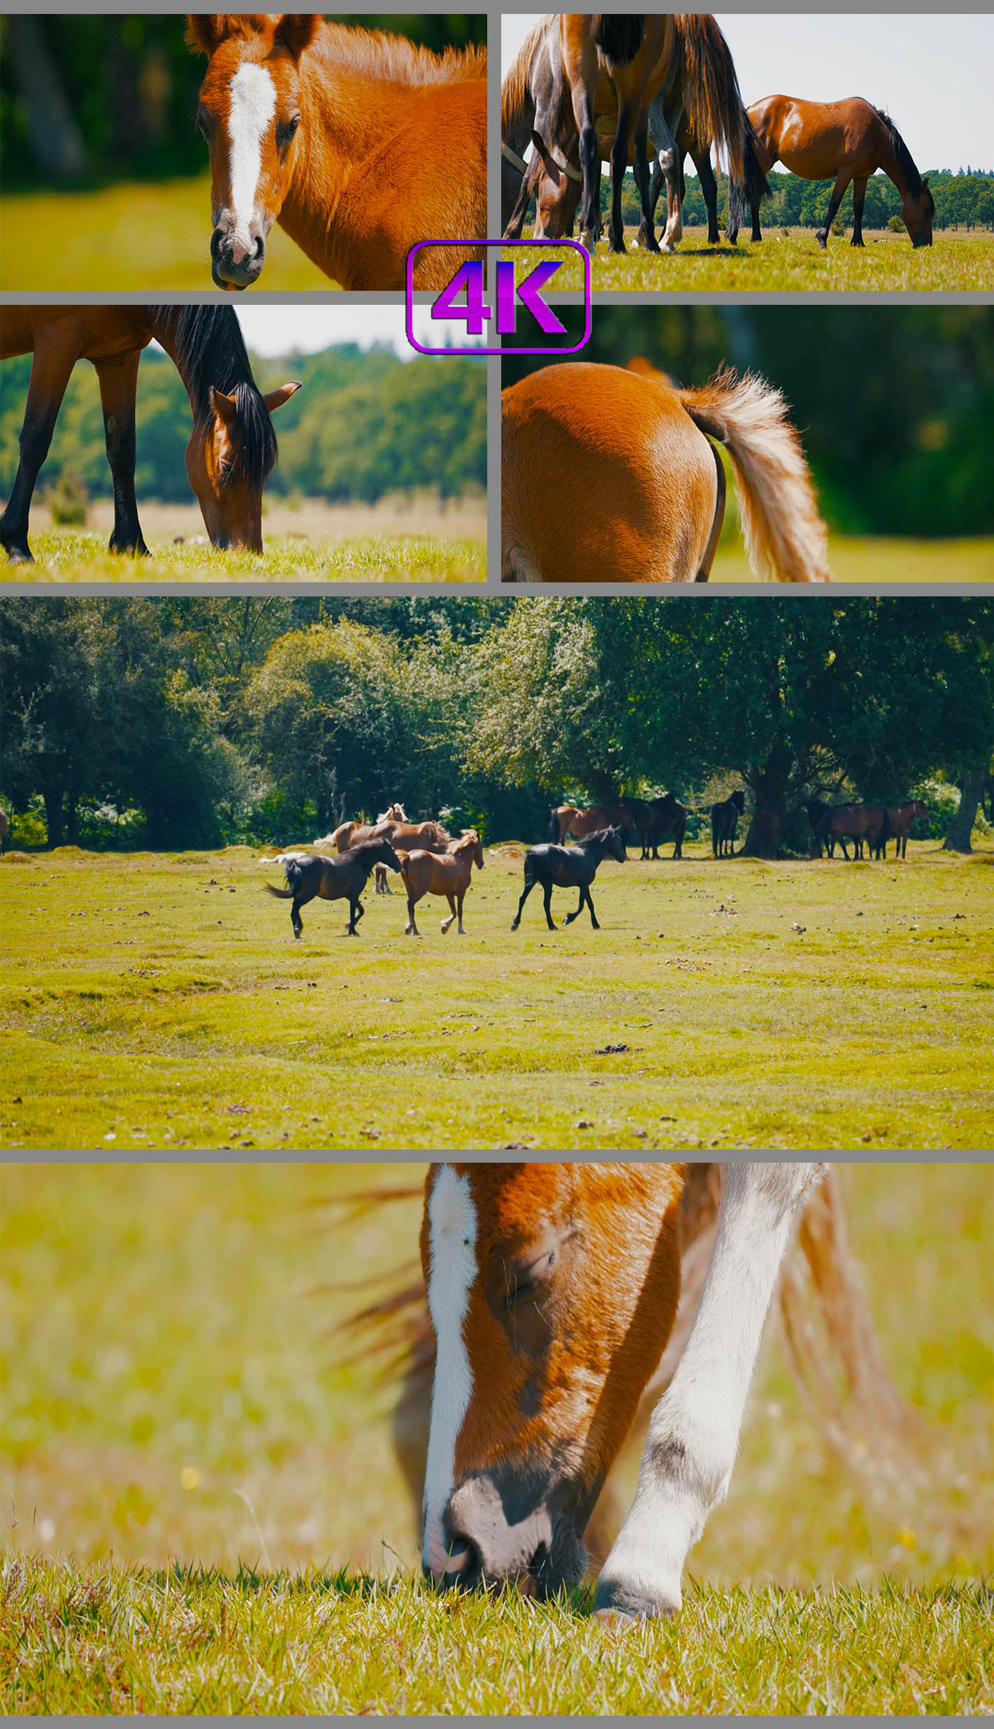
M 697 391 L 678 391 L 693 424 L 728 450 L 745 552 L 757 576 L 830 583 L 828 534 L 800 439 L 780 391 L 730 367 Z

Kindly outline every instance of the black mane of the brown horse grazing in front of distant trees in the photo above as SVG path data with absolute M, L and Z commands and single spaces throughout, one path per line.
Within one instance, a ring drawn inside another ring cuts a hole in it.
M 204 429 L 214 417 L 211 387 L 235 398 L 240 432 L 237 470 L 252 486 L 263 486 L 280 448 L 273 417 L 252 379 L 242 327 L 233 306 L 152 306 L 157 322 L 175 318 L 176 363 L 188 377 L 194 425 Z

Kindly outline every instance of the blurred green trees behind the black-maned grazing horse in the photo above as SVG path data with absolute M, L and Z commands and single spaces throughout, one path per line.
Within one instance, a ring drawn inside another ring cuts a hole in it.
M 420 488 L 437 489 L 443 498 L 486 488 L 486 372 L 472 358 L 403 361 L 392 348 L 347 342 L 316 354 L 252 356 L 252 372 L 263 391 L 287 377 L 304 386 L 280 410 L 271 496 L 375 503 L 385 493 Z M 9 489 L 17 472 L 31 354 L 3 361 L 0 375 L 0 475 Z M 190 405 L 180 373 L 166 354 L 145 349 L 135 470 L 140 498 L 190 501 L 188 437 Z M 92 494 L 109 486 L 100 392 L 88 365 L 73 372 L 43 470 L 43 486 L 66 482 Z

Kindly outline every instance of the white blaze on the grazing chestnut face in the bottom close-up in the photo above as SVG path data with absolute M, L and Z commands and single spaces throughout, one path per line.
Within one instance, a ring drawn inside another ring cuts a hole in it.
M 422 1542 L 422 1561 L 436 1577 L 446 1570 L 443 1513 L 453 1490 L 456 1440 L 474 1385 L 463 1321 L 477 1276 L 475 1238 L 477 1219 L 468 1177 L 443 1165 L 429 1202 L 429 1312 L 437 1350 Z

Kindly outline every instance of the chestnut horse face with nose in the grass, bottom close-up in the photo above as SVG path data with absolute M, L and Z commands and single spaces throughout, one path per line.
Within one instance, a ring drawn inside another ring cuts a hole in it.
M 577 1584 L 583 1532 L 669 1337 L 683 1165 L 432 1165 L 437 1340 L 422 1566 Z

